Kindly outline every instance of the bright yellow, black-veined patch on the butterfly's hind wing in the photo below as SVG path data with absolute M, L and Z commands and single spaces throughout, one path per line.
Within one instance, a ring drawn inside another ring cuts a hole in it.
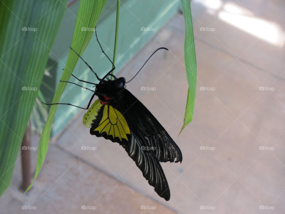
M 122 139 L 128 141 L 127 134 L 130 134 L 128 123 L 121 112 L 108 105 L 104 106 L 102 119 L 94 131 L 98 131 L 100 134 L 105 132 L 108 136 L 112 136 L 113 139 L 118 137 L 120 141 Z

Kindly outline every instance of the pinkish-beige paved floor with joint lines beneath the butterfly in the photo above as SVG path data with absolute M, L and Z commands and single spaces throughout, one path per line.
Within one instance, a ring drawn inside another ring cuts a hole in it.
M 197 95 L 194 119 L 179 137 L 188 88 L 183 16 L 177 14 L 117 73 L 128 80 L 156 48 L 169 48 L 127 88 L 183 153 L 181 164 L 162 163 L 170 201 L 157 196 L 123 148 L 89 134 L 82 112 L 50 145 L 25 196 L 16 163 L 1 213 L 284 213 L 284 6 L 277 0 L 192 1 Z

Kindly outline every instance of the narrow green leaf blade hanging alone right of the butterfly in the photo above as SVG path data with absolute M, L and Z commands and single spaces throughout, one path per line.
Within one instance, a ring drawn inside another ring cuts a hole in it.
M 196 65 L 196 54 L 195 54 L 195 44 L 194 44 L 195 41 L 193 34 L 190 1 L 181 0 L 181 6 L 185 19 L 184 61 L 185 61 L 185 69 L 186 69 L 189 89 L 187 95 L 183 126 L 180 130 L 180 133 L 186 127 L 186 125 L 189 122 L 191 122 L 193 119 L 194 103 L 196 95 L 196 81 L 197 81 L 197 65 Z

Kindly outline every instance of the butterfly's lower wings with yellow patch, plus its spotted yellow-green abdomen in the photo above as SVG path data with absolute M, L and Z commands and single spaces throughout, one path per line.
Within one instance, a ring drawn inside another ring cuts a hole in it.
M 91 127 L 92 135 L 121 144 L 156 193 L 168 201 L 170 190 L 159 159 L 152 150 L 147 149 L 145 141 L 137 137 L 137 131 L 130 130 L 134 124 L 126 121 L 125 112 L 112 104 L 102 105 L 96 100 L 84 115 L 83 123 Z

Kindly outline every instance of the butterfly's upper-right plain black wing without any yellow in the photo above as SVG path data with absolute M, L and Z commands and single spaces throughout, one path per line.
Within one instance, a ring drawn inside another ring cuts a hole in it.
M 167 131 L 162 127 L 151 112 L 131 92 L 124 89 L 121 101 L 118 101 L 127 121 L 132 121 L 131 131 L 138 133 L 141 141 L 149 147 L 155 148 L 153 152 L 161 162 L 181 162 L 182 153 Z

